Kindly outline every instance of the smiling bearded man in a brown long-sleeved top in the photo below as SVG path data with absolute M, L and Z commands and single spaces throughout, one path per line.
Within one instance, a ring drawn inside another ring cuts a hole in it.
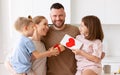
M 47 36 L 43 40 L 47 49 L 59 44 L 65 34 L 72 37 L 80 34 L 78 27 L 64 24 L 66 13 L 62 4 L 54 3 L 50 10 L 53 24 L 50 25 Z M 47 59 L 47 75 L 75 75 L 75 73 L 75 56 L 68 48 L 59 55 Z

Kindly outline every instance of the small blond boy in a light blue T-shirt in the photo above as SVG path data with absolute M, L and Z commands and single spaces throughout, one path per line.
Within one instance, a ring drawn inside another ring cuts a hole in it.
M 47 25 L 46 19 L 44 19 L 43 23 Z M 30 72 L 32 75 L 36 75 L 36 73 L 31 69 L 31 57 L 38 59 L 46 56 L 56 55 L 58 54 L 58 50 L 53 47 L 46 52 L 39 52 L 36 50 L 32 40 L 29 38 L 36 33 L 34 31 L 34 23 L 31 19 L 19 17 L 15 22 L 15 28 L 20 32 L 21 35 L 18 42 L 16 42 L 14 51 L 7 63 L 8 69 L 13 75 L 28 75 Z M 34 36 L 33 40 L 38 40 L 38 37 Z M 41 49 L 44 49 L 44 46 L 41 46 L 40 50 Z

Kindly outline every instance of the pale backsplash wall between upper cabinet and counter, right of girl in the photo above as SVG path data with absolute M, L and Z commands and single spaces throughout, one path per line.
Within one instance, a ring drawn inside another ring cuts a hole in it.
M 107 56 L 120 56 L 120 24 L 103 24 L 104 51 Z

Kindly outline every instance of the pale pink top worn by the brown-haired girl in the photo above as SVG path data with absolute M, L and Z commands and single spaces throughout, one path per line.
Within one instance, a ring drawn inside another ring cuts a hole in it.
M 80 50 L 84 50 L 85 52 L 94 55 L 96 57 L 101 58 L 102 54 L 102 42 L 99 39 L 94 41 L 90 41 L 84 38 L 83 35 L 76 36 L 76 39 L 83 43 L 83 46 Z M 81 55 L 75 55 L 77 60 L 77 69 L 82 69 L 87 66 L 98 66 L 101 67 L 101 62 L 95 63 L 93 61 L 88 60 L 87 58 Z

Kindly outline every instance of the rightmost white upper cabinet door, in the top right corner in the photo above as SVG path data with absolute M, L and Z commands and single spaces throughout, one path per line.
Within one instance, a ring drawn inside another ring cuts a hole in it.
M 105 23 L 120 24 L 120 0 L 105 0 Z

